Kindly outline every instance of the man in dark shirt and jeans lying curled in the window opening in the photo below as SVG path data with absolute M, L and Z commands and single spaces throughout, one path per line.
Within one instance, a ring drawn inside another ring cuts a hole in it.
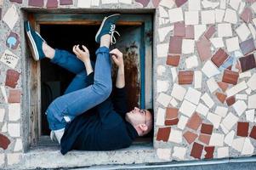
M 120 14 L 105 17 L 95 41 L 100 43 L 96 51 L 95 68 L 91 65 L 88 48 L 78 45 L 70 54 L 65 50 L 48 46 L 43 38 L 26 22 L 26 35 L 34 59 L 51 59 L 76 74 L 65 94 L 48 106 L 46 111 L 51 139 L 56 139 L 65 155 L 69 150 L 117 150 L 128 147 L 138 136 L 152 129 L 150 111 L 134 107 L 127 111 L 125 77 L 122 53 L 116 48 L 113 37 L 115 23 Z M 117 33 L 118 34 L 118 33 Z M 119 35 L 119 34 L 118 34 Z M 111 81 L 111 58 L 118 67 L 117 82 Z

